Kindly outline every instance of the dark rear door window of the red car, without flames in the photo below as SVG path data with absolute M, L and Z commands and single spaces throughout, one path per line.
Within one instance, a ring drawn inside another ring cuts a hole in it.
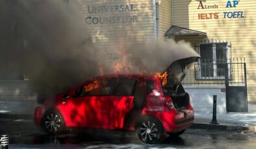
M 134 86 L 136 80 L 132 78 L 119 78 L 116 86 L 116 96 L 131 96 L 134 95 Z

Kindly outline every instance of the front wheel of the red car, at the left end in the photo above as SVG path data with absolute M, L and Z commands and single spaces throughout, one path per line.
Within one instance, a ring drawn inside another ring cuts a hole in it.
M 43 126 L 47 133 L 55 135 L 63 132 L 64 119 L 57 111 L 48 111 L 44 115 Z

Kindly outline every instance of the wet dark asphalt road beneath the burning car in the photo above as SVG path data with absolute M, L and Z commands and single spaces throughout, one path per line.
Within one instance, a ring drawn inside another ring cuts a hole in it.
M 51 136 L 23 119 L 0 119 L 0 134 L 9 135 L 9 148 L 256 148 L 255 133 L 188 129 L 181 137 L 145 144 L 134 132 L 70 130 Z

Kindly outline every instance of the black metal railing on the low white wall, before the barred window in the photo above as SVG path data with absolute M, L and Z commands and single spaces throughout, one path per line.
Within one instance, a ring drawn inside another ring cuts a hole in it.
M 228 78 L 229 86 L 244 86 L 245 59 L 198 60 L 194 68 L 188 69 L 183 85 L 225 85 L 225 78 Z

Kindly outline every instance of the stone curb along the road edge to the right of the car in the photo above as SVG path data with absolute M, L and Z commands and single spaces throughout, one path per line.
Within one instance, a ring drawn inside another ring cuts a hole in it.
M 219 130 L 219 131 L 233 131 L 233 132 L 256 132 L 256 126 L 240 126 L 240 125 L 227 125 L 227 124 L 207 124 L 207 123 L 194 123 L 190 126 L 191 129 L 199 130 Z

